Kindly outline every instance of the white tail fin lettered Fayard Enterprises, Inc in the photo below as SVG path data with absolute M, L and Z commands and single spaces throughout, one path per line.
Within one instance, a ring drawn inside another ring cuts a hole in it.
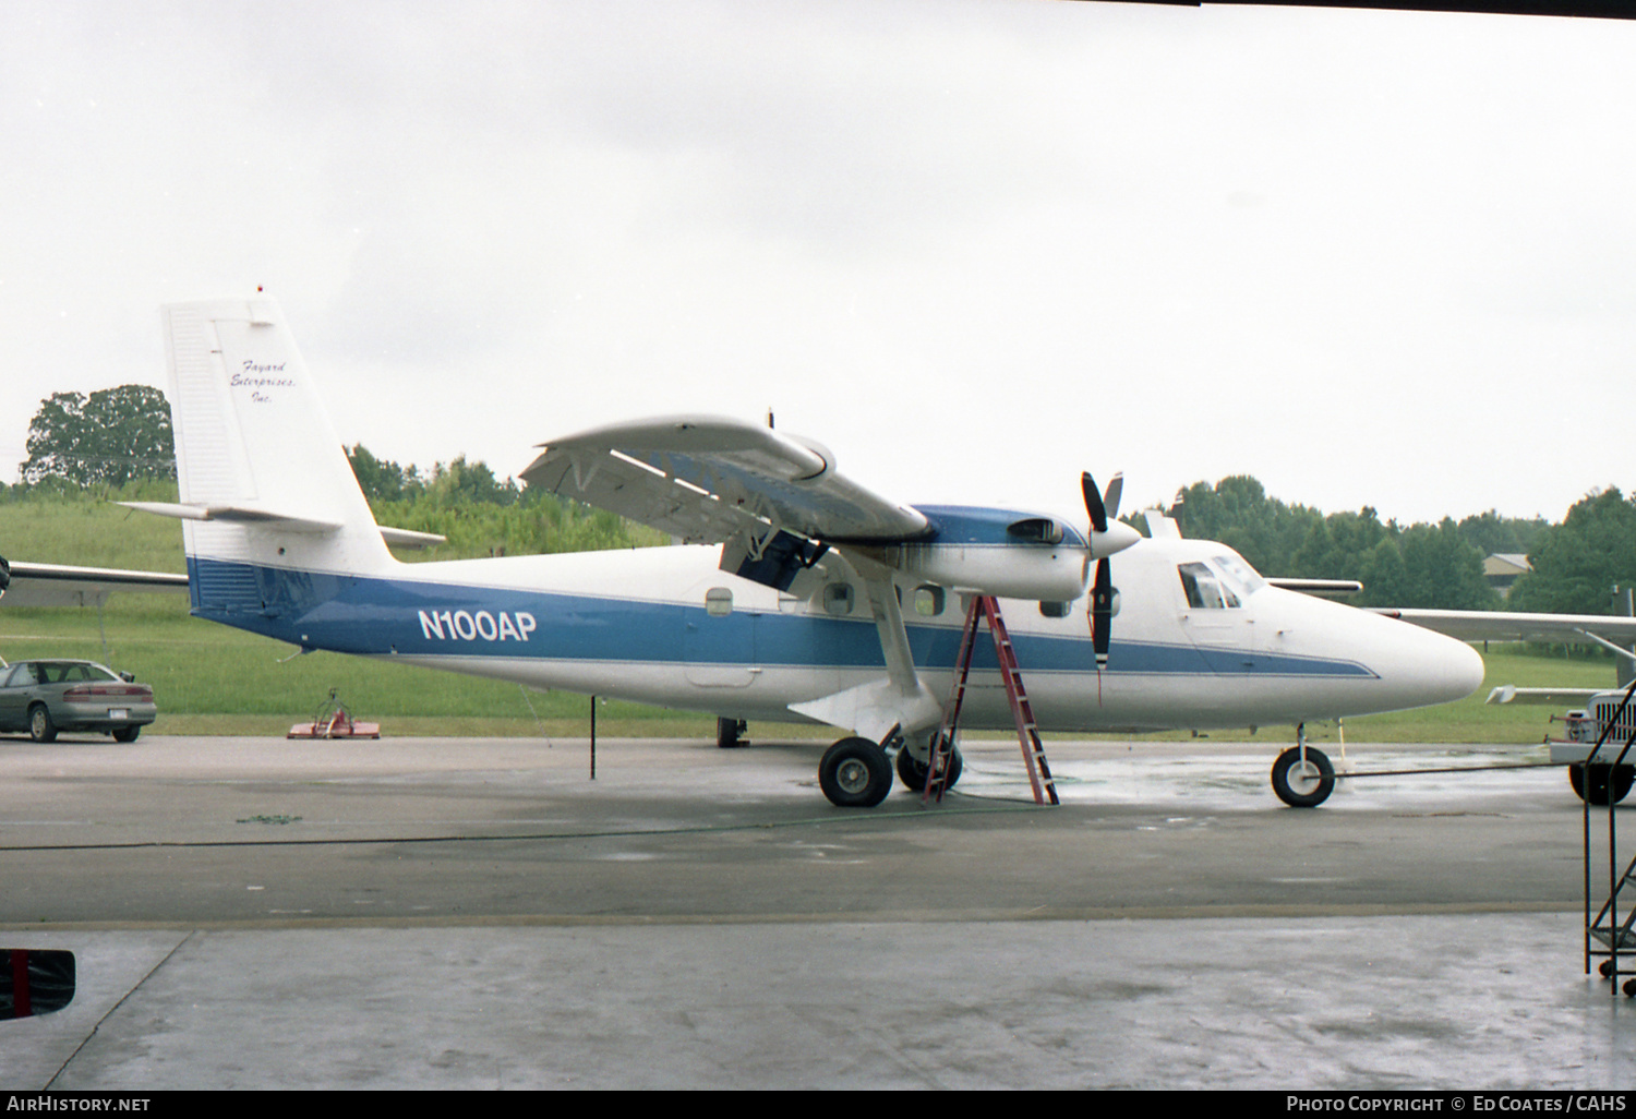
M 162 309 L 193 607 L 265 612 L 273 573 L 396 561 L 273 299 Z M 133 502 L 136 504 L 136 502 Z

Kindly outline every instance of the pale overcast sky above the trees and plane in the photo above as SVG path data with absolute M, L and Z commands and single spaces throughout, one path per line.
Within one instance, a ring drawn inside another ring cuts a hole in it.
M 1636 486 L 1633 186 L 1626 21 L 0 0 L 0 474 L 262 285 L 399 463 L 772 407 L 898 501 L 1556 520 Z

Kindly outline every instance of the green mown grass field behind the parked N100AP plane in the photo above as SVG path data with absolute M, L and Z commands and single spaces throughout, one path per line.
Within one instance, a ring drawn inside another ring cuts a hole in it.
M 183 571 L 182 530 L 172 520 L 131 514 L 106 502 L 0 502 L 0 555 L 41 563 Z M 589 699 L 525 692 L 448 672 L 384 664 L 335 653 L 288 659 L 280 641 L 200 622 L 178 594 L 116 594 L 103 610 L 33 610 L 0 605 L 0 656 L 72 656 L 103 661 L 152 684 L 167 735 L 283 735 L 311 718 L 334 687 L 358 718 L 389 735 L 576 736 L 589 726 Z M 1494 646 L 1487 676 L 1458 703 L 1348 720 L 1351 741 L 1538 743 L 1549 708 L 1482 700 L 1499 684 L 1523 687 L 1613 687 L 1613 663 L 1602 653 L 1544 654 Z M 1026 666 L 1024 666 L 1026 676 Z M 1335 739 L 1333 725 L 1309 726 L 1317 741 Z M 705 738 L 715 720 L 607 702 L 597 731 L 618 736 Z M 829 738 L 825 728 L 751 728 L 767 736 Z M 1186 735 L 1186 731 L 1181 731 Z M 1175 736 L 1171 731 L 1165 736 Z M 1252 738 L 1247 730 L 1209 731 L 1212 739 Z M 1261 741 L 1292 738 L 1288 726 L 1265 726 Z

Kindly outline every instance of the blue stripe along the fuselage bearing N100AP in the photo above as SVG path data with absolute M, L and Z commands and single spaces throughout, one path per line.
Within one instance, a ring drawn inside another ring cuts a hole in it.
M 579 595 L 515 587 L 337 576 L 188 558 L 193 613 L 280 641 L 363 656 L 492 656 L 573 661 L 883 669 L 869 618 Z M 960 625 L 908 625 L 915 663 L 954 666 Z M 1094 672 L 1085 638 L 1013 630 L 1031 672 Z M 1373 677 L 1355 661 L 1114 640 L 1121 674 Z M 995 669 L 978 638 L 973 667 Z

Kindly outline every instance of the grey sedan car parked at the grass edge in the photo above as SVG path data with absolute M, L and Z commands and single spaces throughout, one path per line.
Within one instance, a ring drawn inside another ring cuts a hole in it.
M 0 667 L 0 731 L 28 731 L 36 743 L 57 731 L 101 731 L 134 743 L 157 713 L 154 689 L 93 661 Z

